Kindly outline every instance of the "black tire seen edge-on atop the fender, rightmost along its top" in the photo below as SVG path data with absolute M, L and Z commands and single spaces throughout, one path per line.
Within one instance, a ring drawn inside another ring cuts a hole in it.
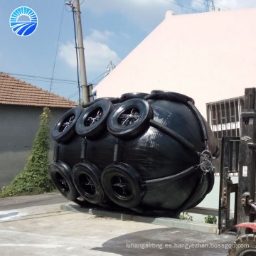
M 177 92 L 169 92 L 169 91 L 163 91 L 163 90 L 152 90 L 148 97 L 151 100 L 169 100 L 169 101 L 176 101 L 176 102 L 182 102 L 182 103 L 191 101 L 191 102 L 193 102 L 193 104 L 195 104 L 195 101 L 191 97 L 182 95 Z

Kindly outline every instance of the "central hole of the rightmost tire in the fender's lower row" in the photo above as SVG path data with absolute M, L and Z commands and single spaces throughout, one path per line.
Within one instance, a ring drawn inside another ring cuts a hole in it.
M 123 176 L 113 176 L 111 178 L 111 186 L 119 198 L 129 198 L 132 196 L 132 185 Z

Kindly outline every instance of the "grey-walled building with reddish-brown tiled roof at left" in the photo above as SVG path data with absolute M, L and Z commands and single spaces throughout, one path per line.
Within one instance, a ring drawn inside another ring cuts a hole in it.
M 50 127 L 53 128 L 60 116 L 76 105 L 0 72 L 0 188 L 23 171 L 38 132 L 43 107 L 48 106 L 51 110 Z

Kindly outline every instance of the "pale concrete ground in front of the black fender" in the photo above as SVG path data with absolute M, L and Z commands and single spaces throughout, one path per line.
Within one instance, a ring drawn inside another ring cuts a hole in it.
M 42 205 L 43 198 L 51 203 Z M 27 207 L 21 208 L 21 202 Z M 67 201 L 58 193 L 0 199 L 0 255 L 214 256 L 227 255 L 235 240 L 231 233 L 214 235 L 61 211 L 63 203 Z

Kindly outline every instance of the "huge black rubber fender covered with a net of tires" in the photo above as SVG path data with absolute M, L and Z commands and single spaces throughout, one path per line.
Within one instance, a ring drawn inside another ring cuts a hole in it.
M 175 217 L 211 191 L 218 156 L 193 99 L 176 92 L 127 93 L 66 112 L 55 124 L 49 174 L 70 201 Z M 80 203 L 82 204 L 82 203 Z

